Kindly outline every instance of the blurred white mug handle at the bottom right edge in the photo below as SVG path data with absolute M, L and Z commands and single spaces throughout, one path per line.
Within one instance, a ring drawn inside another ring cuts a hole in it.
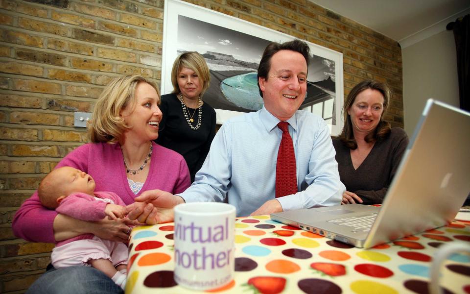
M 442 294 L 442 288 L 439 287 L 439 270 L 441 269 L 442 264 L 447 260 L 447 258 L 458 252 L 466 251 L 470 253 L 470 245 L 461 242 L 448 243 L 441 246 L 434 257 L 434 260 L 431 265 L 431 274 L 430 274 L 430 283 L 429 283 L 429 293 L 430 294 Z

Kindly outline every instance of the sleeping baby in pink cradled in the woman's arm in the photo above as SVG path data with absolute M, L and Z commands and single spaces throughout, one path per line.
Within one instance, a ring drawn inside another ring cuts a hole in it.
M 125 203 L 112 192 L 95 192 L 93 178 L 86 172 L 62 167 L 41 181 L 38 194 L 41 203 L 58 213 L 82 221 L 110 220 L 125 216 Z M 127 246 L 102 240 L 93 234 L 80 235 L 58 242 L 52 249 L 54 268 L 77 265 L 101 270 L 124 289 L 126 283 Z

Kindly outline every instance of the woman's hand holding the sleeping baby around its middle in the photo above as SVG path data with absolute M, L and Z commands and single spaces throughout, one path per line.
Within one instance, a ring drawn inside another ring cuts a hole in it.
M 128 242 L 132 226 L 139 224 L 138 221 L 132 221 L 128 218 L 108 220 L 104 218 L 101 221 L 91 221 L 91 233 L 96 237 L 116 242 Z

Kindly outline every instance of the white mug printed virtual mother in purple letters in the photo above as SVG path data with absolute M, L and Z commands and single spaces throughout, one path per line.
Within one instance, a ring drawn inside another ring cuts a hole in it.
M 175 281 L 208 290 L 232 281 L 235 272 L 235 206 L 218 202 L 175 206 Z

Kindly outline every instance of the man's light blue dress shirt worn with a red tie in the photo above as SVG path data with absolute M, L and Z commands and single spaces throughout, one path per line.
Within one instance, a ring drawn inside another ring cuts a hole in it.
M 282 131 L 266 108 L 222 125 L 194 183 L 179 194 L 186 202 L 217 201 L 235 205 L 248 216 L 275 198 L 276 161 Z M 340 204 L 345 191 L 328 125 L 302 110 L 288 121 L 294 144 L 299 192 L 277 198 L 284 211 Z

